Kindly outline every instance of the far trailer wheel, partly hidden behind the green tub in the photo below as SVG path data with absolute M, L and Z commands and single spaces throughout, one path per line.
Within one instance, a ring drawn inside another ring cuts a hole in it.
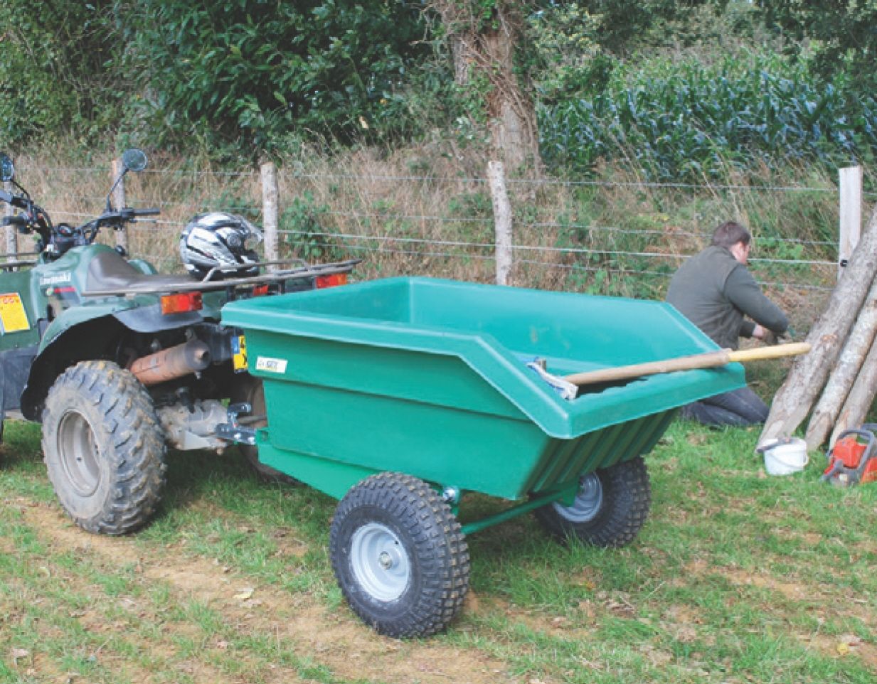
M 637 536 L 651 503 L 649 474 L 640 456 L 583 475 L 572 506 L 553 502 L 535 513 L 554 537 L 624 546 Z

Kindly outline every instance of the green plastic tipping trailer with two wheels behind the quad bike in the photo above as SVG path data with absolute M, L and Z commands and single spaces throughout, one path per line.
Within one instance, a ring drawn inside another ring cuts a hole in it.
M 392 278 L 227 303 L 222 322 L 243 331 L 267 407 L 238 438 L 340 499 L 339 585 L 399 638 L 460 610 L 467 534 L 532 510 L 557 538 L 630 543 L 651 502 L 643 456 L 674 410 L 744 385 L 735 363 L 567 400 L 527 365 L 563 375 L 717 349 L 665 303 Z M 468 492 L 512 503 L 468 520 Z

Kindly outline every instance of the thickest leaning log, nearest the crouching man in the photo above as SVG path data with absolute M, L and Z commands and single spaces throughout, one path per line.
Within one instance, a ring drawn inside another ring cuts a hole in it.
M 795 365 L 774 396 L 759 445 L 767 439 L 790 437 L 822 390 L 840 347 L 852 327 L 853 319 L 871 289 L 877 272 L 877 211 L 868 221 L 859 246 L 852 253 L 828 306 L 810 329 L 807 341 L 812 350 Z

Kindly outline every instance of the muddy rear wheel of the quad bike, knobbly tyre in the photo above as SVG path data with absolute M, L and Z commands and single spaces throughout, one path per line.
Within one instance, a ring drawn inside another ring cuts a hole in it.
M 160 500 L 165 441 L 146 388 L 109 361 L 83 361 L 49 389 L 43 454 L 61 506 L 82 529 L 125 534 Z

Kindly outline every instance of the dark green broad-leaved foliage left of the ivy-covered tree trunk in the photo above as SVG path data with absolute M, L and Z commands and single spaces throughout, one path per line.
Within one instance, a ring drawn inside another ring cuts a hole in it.
M 137 118 L 163 142 L 270 149 L 289 132 L 400 132 L 408 70 L 430 49 L 405 0 L 146 0 L 125 23 L 125 72 L 148 93 Z

